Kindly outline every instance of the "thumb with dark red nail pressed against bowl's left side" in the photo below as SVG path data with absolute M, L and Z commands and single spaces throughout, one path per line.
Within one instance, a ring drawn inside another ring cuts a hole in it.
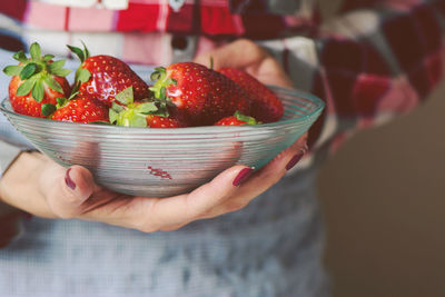
M 42 185 L 48 206 L 60 218 L 80 215 L 83 210 L 82 204 L 95 189 L 91 172 L 81 166 L 68 169 L 56 167 L 50 178 L 46 177 Z

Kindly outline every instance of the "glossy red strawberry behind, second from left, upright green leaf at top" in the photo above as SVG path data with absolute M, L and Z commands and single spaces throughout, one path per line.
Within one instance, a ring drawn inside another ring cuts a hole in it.
M 80 97 L 96 98 L 111 107 L 116 95 L 132 87 L 135 100 L 148 98 L 150 91 L 147 83 L 121 60 L 106 55 L 89 56 L 83 44 L 83 50 L 67 46 L 75 52 L 81 65 L 76 72 L 75 92 Z

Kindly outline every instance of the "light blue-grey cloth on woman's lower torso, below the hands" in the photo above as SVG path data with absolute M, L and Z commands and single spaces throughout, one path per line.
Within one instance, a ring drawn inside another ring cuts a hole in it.
M 170 232 L 32 218 L 0 251 L 0 296 L 327 296 L 315 174 Z

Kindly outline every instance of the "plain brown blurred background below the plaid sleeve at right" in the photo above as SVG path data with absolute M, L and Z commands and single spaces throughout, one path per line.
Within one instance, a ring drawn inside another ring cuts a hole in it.
M 327 161 L 319 196 L 334 297 L 445 296 L 445 82 Z

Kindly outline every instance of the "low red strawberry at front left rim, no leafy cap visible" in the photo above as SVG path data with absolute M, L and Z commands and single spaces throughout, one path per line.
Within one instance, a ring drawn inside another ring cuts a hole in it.
M 91 121 L 108 122 L 108 108 L 98 100 L 77 97 L 57 109 L 50 119 L 83 123 Z

